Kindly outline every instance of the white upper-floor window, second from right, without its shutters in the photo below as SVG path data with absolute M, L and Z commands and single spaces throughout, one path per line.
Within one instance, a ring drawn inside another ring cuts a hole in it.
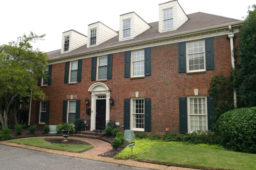
M 132 76 L 145 76 L 145 57 L 144 50 L 132 52 L 131 64 Z

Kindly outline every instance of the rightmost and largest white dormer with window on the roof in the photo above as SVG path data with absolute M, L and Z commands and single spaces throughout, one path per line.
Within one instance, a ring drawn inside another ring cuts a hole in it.
M 159 4 L 159 32 L 178 29 L 188 20 L 188 16 L 181 8 L 178 0 Z

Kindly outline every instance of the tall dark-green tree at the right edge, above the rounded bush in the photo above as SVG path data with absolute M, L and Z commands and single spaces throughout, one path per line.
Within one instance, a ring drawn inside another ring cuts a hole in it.
M 248 16 L 240 29 L 240 61 L 237 72 L 237 94 L 247 106 L 256 106 L 256 6 L 248 8 Z

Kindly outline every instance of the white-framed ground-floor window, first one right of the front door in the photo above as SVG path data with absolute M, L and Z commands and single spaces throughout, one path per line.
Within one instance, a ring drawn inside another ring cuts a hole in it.
M 131 129 L 144 131 L 144 99 L 132 99 Z

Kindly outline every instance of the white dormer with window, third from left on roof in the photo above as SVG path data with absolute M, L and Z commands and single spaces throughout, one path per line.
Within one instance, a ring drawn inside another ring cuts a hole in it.
M 133 39 L 150 28 L 135 12 L 120 15 L 119 41 Z

